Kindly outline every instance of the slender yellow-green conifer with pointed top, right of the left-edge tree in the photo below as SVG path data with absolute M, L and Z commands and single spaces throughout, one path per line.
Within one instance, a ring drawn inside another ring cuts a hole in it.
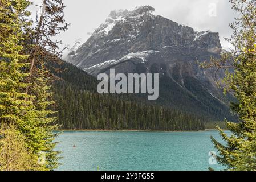
M 48 169 L 54 169 L 58 166 L 58 154 L 59 152 L 54 151 L 56 143 L 54 138 L 56 134 L 54 130 L 58 129 L 58 125 L 53 125 L 57 117 L 54 117 L 55 112 L 50 109 L 50 105 L 55 104 L 52 101 L 52 92 L 50 86 L 50 77 L 48 70 L 46 69 L 44 62 L 42 61 L 39 68 L 36 69 L 35 82 L 31 87 L 31 92 L 34 93 L 36 100 L 35 105 L 35 123 L 34 128 L 37 130 L 38 144 L 35 152 L 45 152 L 46 154 L 46 167 Z M 43 140 L 42 140 L 43 138 Z M 35 139 L 35 137 L 34 137 Z M 40 145 L 39 145 L 40 144 Z

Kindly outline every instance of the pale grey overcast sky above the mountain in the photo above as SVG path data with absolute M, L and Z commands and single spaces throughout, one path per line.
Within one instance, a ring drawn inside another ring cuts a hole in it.
M 32 0 L 40 5 L 42 0 Z M 136 6 L 150 5 L 155 15 L 161 15 L 174 22 L 185 24 L 197 31 L 210 30 L 220 33 L 223 47 L 230 47 L 223 37 L 229 37 L 229 23 L 236 16 L 228 0 L 63 0 L 66 21 L 71 23 L 69 30 L 58 35 L 64 45 L 72 45 L 78 39 L 85 42 L 94 29 L 105 22 L 110 11 L 133 10 Z M 31 6 L 35 15 L 38 7 Z

